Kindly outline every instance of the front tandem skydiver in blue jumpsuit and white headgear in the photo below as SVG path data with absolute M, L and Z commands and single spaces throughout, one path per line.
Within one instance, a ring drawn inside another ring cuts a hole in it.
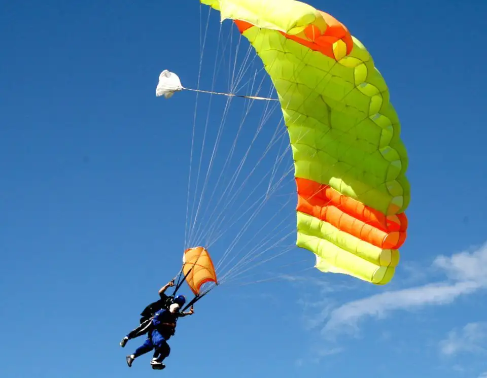
M 155 351 L 151 360 L 152 368 L 160 370 L 165 367 L 162 361 L 169 356 L 171 351 L 167 340 L 175 333 L 178 318 L 193 314 L 192 307 L 188 313 L 180 313 L 180 308 L 181 305 L 179 303 L 172 303 L 169 306 L 169 310 L 162 308 L 154 314 L 146 341 L 143 345 L 138 347 L 133 354 L 126 357 L 127 365 L 129 367 L 132 366 L 132 362 L 135 360 L 135 358 L 142 356 L 153 349 Z

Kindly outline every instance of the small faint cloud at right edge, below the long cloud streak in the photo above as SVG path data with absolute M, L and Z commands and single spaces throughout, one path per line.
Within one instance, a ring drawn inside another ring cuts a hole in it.
M 459 353 L 487 353 L 487 322 L 469 323 L 460 331 L 451 330 L 448 336 L 440 341 L 440 352 L 446 356 Z M 487 378 L 487 376 L 485 377 Z

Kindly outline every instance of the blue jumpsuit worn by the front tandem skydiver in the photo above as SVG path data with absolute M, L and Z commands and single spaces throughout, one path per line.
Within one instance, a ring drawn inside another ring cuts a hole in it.
M 171 349 L 167 340 L 173 334 L 174 328 L 162 323 L 176 323 L 177 318 L 178 315 L 172 314 L 169 310 L 162 309 L 156 312 L 152 320 L 152 329 L 143 345 L 135 350 L 134 357 L 141 356 L 153 349 L 159 354 L 157 358 L 159 362 L 169 356 Z

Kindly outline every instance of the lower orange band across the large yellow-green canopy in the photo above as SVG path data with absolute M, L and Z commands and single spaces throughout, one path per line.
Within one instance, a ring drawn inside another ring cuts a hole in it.
M 296 210 L 332 224 L 382 249 L 398 249 L 406 239 L 405 214 L 385 216 L 328 185 L 296 178 Z

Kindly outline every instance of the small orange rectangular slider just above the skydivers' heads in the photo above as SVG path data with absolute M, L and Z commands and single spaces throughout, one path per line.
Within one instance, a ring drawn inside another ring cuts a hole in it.
M 194 295 L 200 295 L 200 288 L 203 284 L 218 283 L 212 258 L 203 247 L 190 248 L 184 252 L 183 274 Z

